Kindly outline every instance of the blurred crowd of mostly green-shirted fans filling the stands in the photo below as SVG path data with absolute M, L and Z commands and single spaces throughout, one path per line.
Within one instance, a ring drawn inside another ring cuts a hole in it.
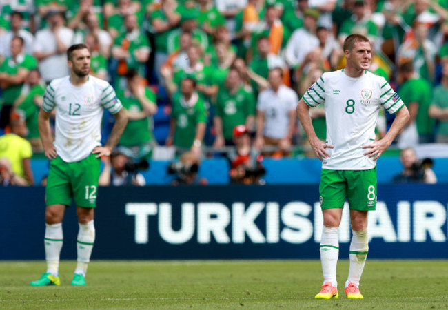
M 371 40 L 371 72 L 409 108 L 398 147 L 448 143 L 448 0 L 6 0 L 0 12 L 0 163 L 11 172 L 2 182 L 34 183 L 42 96 L 69 73 L 74 43 L 88 45 L 91 74 L 128 110 L 116 154 L 135 163 L 157 145 L 197 161 L 224 154 L 235 183 L 254 173 L 257 183 L 262 156 L 312 156 L 296 104 L 323 72 L 345 67 L 352 33 Z M 325 110 L 311 113 L 325 140 Z M 394 117 L 380 115 L 378 138 Z M 105 113 L 104 139 L 112 122 Z

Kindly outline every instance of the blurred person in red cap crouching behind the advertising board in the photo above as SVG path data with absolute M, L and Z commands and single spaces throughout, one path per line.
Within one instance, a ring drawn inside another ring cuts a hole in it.
M 252 147 L 250 133 L 245 125 L 237 125 L 233 130 L 235 148 L 227 153 L 230 163 L 230 183 L 264 184 L 263 156 Z

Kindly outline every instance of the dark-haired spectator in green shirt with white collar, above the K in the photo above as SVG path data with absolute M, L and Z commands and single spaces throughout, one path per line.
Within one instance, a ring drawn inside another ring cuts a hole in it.
M 181 91 L 172 99 L 170 132 L 165 145 L 174 145 L 181 150 L 191 149 L 199 155 L 206 127 L 205 103 L 196 92 L 196 81 L 186 77 L 181 81 Z

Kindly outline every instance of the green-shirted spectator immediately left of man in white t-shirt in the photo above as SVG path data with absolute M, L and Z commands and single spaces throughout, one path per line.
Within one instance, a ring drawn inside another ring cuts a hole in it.
M 214 147 L 234 145 L 232 130 L 236 125 L 252 128 L 255 116 L 255 101 L 252 94 L 241 85 L 241 78 L 236 68 L 227 74 L 225 85 L 220 87 L 216 100 L 216 114 L 213 118 L 216 139 Z

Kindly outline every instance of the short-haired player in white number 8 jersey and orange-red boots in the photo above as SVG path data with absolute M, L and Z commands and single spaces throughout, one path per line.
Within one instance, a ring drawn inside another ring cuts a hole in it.
M 351 34 L 343 48 L 347 59 L 345 69 L 324 73 L 309 87 L 296 108 L 312 149 L 322 161 L 320 261 L 324 281 L 316 298 L 323 299 L 338 298 L 338 227 L 347 198 L 353 236 L 345 293 L 347 298 L 363 298 L 359 281 L 369 251 L 367 212 L 376 207 L 376 160 L 409 119 L 407 107 L 389 83 L 367 71 L 372 56 L 369 40 L 360 34 Z M 317 138 L 309 117 L 309 108 L 320 103 L 325 106 L 325 142 Z M 384 138 L 375 140 L 380 106 L 394 113 L 395 119 Z

